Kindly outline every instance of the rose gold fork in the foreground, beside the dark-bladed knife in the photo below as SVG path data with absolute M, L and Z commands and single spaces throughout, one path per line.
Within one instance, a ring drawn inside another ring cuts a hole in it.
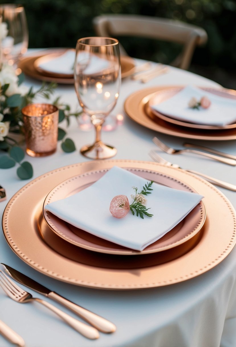
M 78 321 L 77 319 L 71 317 L 69 314 L 59 310 L 57 307 L 53 306 L 52 304 L 49 304 L 48 302 L 42 299 L 32 297 L 32 295 L 29 294 L 27 291 L 17 286 L 16 283 L 14 283 L 5 273 L 3 273 L 2 270 L 0 270 L 0 286 L 5 291 L 5 293 L 16 302 L 24 304 L 31 301 L 37 301 L 38 303 L 49 308 L 49 310 L 56 313 L 72 328 L 80 332 L 81 335 L 89 339 L 97 339 L 99 337 L 99 332 L 97 329 Z

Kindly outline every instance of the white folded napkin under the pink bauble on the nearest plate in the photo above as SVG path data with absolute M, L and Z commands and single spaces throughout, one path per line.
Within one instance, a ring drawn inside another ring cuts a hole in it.
M 147 180 L 130 171 L 113 167 L 98 181 L 83 191 L 65 199 L 49 203 L 45 209 L 66 222 L 93 235 L 118 245 L 142 251 L 169 230 L 174 228 L 203 198 L 196 193 L 153 183 L 153 191 L 145 196 L 146 207 L 153 217 L 144 219 L 130 211 L 121 219 L 109 211 L 116 195 L 126 195 L 130 204 L 131 194 L 142 191 Z

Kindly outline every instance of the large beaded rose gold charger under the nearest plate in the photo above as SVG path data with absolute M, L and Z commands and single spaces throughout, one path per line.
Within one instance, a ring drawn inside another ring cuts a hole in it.
M 202 194 L 207 218 L 201 230 L 177 247 L 142 256 L 89 251 L 52 232 L 42 214 L 48 192 L 69 177 L 114 165 L 159 172 Z M 235 246 L 236 213 L 216 187 L 184 170 L 154 162 L 101 160 L 66 166 L 30 181 L 8 202 L 2 228 L 12 251 L 47 276 L 79 286 L 127 290 L 178 283 L 214 268 Z

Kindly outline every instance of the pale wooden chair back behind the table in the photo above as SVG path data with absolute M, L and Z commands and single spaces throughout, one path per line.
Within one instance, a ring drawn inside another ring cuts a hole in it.
M 93 18 L 98 36 L 136 36 L 176 42 L 183 45 L 181 53 L 170 65 L 187 70 L 196 46 L 207 42 L 206 31 L 198 26 L 167 18 L 142 15 L 101 15 Z M 127 55 L 120 44 L 120 53 Z

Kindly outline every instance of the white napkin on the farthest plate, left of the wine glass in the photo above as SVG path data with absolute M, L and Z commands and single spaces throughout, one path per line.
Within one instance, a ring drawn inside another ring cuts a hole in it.
M 52 56 L 53 57 L 53 56 Z M 40 58 L 39 58 L 40 59 Z M 41 62 L 38 66 L 48 72 L 56 74 L 73 75 L 75 50 L 69 49 L 58 57 Z

